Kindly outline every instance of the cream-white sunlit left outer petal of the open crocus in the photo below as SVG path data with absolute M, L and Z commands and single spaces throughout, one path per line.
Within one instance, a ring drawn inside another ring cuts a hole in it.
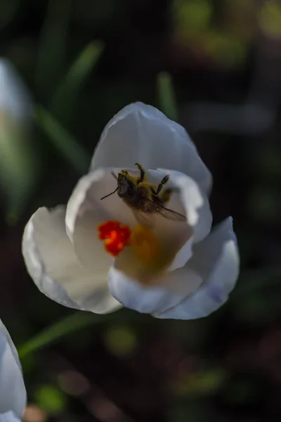
M 97 314 L 119 307 L 107 288 L 105 262 L 96 257 L 96 272 L 79 263 L 65 231 L 65 207 L 34 213 L 25 227 L 22 253 L 39 290 L 61 305 Z

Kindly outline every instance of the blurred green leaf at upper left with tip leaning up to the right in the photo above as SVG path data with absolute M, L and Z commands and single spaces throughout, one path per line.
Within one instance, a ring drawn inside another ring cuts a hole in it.
M 79 90 L 86 77 L 89 76 L 91 70 L 98 63 L 102 51 L 103 43 L 100 41 L 93 41 L 86 46 L 74 61 L 70 70 L 68 70 L 57 91 L 55 91 L 51 101 L 51 111 L 54 115 L 60 117 L 60 120 L 65 122 L 70 118 Z

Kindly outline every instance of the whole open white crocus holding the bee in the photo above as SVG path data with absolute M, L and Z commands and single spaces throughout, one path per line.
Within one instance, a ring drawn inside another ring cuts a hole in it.
M 170 190 L 162 205 L 185 217 L 171 219 L 169 212 L 165 218 L 158 207 L 141 219 L 138 213 L 139 224 L 136 210 L 119 197 L 122 189 L 112 193 L 118 174 L 136 186 L 136 162 L 146 170 L 149 192 L 148 184 L 156 189 L 169 174 L 159 198 Z M 211 174 L 183 127 L 152 106 L 126 106 L 105 127 L 89 174 L 67 207 L 39 208 L 27 223 L 27 269 L 41 292 L 68 307 L 103 314 L 124 305 L 159 318 L 206 316 L 226 302 L 239 272 L 232 219 L 210 234 L 210 188 Z

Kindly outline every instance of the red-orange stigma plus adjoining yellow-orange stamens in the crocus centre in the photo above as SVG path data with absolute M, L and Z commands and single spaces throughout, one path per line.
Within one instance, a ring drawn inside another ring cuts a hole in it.
M 151 264 L 162 255 L 162 248 L 155 234 L 145 226 L 130 229 L 120 222 L 109 220 L 98 226 L 98 237 L 105 241 L 105 250 L 114 257 L 126 246 L 144 264 Z

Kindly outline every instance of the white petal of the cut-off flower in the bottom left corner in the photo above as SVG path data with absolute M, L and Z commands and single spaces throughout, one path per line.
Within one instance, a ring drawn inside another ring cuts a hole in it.
M 16 418 L 12 418 L 11 411 L 20 418 L 25 409 L 26 400 L 18 352 L 0 320 L 0 421 L 16 421 Z M 1 415 L 6 412 L 8 412 L 6 416 Z

